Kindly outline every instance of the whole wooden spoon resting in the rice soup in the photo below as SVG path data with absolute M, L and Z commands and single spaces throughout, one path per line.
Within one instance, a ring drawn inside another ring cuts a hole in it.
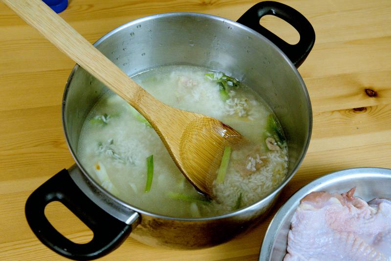
M 41 0 L 3 0 L 27 24 L 139 111 L 196 189 L 212 186 L 225 146 L 242 136 L 221 121 L 170 107 L 147 93 Z

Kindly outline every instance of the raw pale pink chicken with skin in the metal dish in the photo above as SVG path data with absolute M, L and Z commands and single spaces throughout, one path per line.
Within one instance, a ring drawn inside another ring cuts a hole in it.
M 284 261 L 391 261 L 391 201 L 311 192 L 291 221 Z

